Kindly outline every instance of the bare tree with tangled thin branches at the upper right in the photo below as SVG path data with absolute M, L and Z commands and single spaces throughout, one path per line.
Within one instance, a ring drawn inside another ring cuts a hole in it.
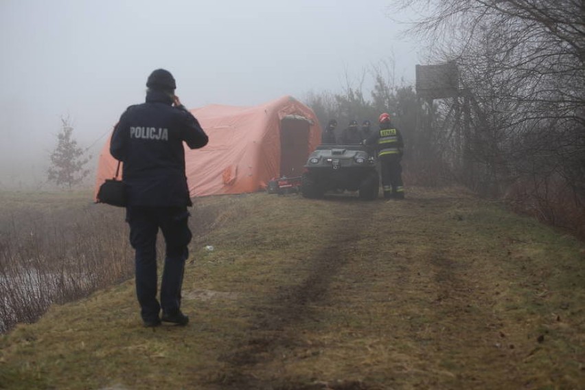
M 445 113 L 457 104 L 461 111 L 467 108 L 471 126 L 463 132 L 461 150 L 448 139 L 442 144 L 451 153 L 471 156 L 492 184 L 522 183 L 516 187 L 548 198 L 549 207 L 567 197 L 543 188 L 569 188 L 575 207 L 583 205 L 585 3 L 415 0 L 399 5 L 412 6 L 432 10 L 411 29 L 431 43 L 430 58 L 455 60 L 461 71 L 466 99 L 438 108 Z

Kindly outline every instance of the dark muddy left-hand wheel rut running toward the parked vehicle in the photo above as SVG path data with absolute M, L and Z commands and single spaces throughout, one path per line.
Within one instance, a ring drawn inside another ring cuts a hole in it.
M 331 200 L 327 200 L 331 201 Z M 347 203 L 350 204 L 347 204 Z M 325 385 L 295 385 L 292 383 L 275 384 L 268 378 L 257 378 L 244 371 L 253 371 L 255 367 L 270 363 L 279 358 L 274 351 L 280 347 L 294 347 L 298 341 L 285 332 L 287 328 L 301 321 L 311 319 L 310 308 L 312 303 L 323 301 L 330 288 L 332 279 L 341 273 L 341 270 L 352 258 L 352 247 L 360 240 L 356 231 L 371 223 L 380 203 L 363 203 L 363 201 L 339 200 L 340 207 L 335 209 L 332 219 L 345 219 L 351 222 L 339 227 L 336 225 L 334 234 L 323 234 L 331 237 L 329 242 L 323 242 L 320 250 L 303 261 L 303 268 L 308 270 L 308 276 L 299 284 L 282 286 L 272 299 L 255 306 L 256 318 L 249 328 L 250 337 L 239 345 L 234 345 L 233 352 L 222 356 L 221 360 L 227 363 L 226 371 L 222 373 L 216 385 L 220 389 L 337 389 L 358 390 L 367 389 L 360 382 L 339 382 Z M 348 207 L 345 207 L 347 205 Z M 292 273 L 292 272 L 291 272 Z M 287 274 L 286 271 L 283 273 Z

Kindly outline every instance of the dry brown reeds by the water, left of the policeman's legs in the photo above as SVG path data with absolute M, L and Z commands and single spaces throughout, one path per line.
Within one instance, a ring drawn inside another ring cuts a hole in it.
M 90 199 L 0 193 L 0 332 L 132 275 L 124 210 Z

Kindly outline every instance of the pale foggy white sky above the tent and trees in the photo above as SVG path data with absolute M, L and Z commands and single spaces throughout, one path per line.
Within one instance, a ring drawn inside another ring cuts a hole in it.
M 146 78 L 159 67 L 171 71 L 187 108 L 341 93 L 346 76 L 358 80 L 392 57 L 396 76 L 414 84 L 417 48 L 389 5 L 0 0 L 0 188 L 30 181 L 23 175 L 46 179 L 60 117 L 99 154 L 126 106 L 144 101 Z

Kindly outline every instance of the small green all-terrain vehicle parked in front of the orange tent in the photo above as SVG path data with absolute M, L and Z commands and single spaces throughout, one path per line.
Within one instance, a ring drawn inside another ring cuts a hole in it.
M 363 200 L 378 197 L 376 160 L 362 145 L 320 145 L 310 154 L 301 176 L 301 194 L 322 198 L 325 192 L 358 192 Z

